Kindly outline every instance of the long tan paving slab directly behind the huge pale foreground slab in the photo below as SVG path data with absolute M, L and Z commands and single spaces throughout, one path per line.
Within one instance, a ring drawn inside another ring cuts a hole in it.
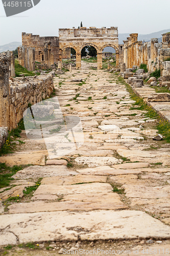
M 67 201 L 69 199 L 69 201 Z M 115 210 L 127 209 L 116 193 L 87 193 L 86 195 L 74 194 L 66 196 L 60 202 L 46 203 L 35 201 L 31 203 L 13 204 L 9 206 L 9 214 L 23 214 L 41 211 L 63 211 L 63 210 Z

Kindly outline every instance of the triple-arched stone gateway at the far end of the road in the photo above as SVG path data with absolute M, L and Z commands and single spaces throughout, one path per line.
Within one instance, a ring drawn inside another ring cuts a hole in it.
M 59 59 L 62 51 L 73 48 L 76 51 L 76 69 L 81 68 L 81 51 L 85 46 L 93 46 L 98 54 L 98 69 L 102 69 L 102 51 L 105 47 L 113 47 L 116 51 L 116 66 L 119 62 L 117 27 L 96 29 L 82 27 L 80 29 L 59 29 Z

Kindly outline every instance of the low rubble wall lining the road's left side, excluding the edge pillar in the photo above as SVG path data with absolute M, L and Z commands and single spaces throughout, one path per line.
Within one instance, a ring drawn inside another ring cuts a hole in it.
M 54 90 L 54 72 L 35 77 L 17 77 L 9 86 L 9 130 L 23 118 L 28 104 L 35 104 L 49 97 Z

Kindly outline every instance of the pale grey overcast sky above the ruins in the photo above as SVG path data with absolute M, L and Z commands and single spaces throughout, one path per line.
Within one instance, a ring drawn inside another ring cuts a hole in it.
M 58 36 L 59 28 L 78 28 L 81 21 L 87 28 L 113 26 L 118 33 L 150 34 L 170 29 L 169 12 L 170 0 L 41 0 L 6 17 L 0 0 L 0 45 L 21 42 L 22 32 Z

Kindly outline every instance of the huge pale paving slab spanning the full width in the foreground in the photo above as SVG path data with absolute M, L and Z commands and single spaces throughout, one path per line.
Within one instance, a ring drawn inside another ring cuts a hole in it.
M 142 211 L 38 212 L 0 216 L 0 245 L 63 241 L 170 238 L 170 227 Z

